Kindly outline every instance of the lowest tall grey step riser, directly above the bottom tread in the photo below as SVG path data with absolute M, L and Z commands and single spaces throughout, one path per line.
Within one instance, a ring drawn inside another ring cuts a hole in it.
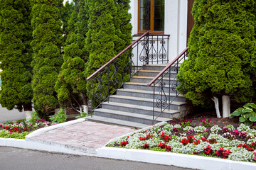
M 110 114 L 110 113 L 104 113 L 104 112 L 98 112 L 98 111 L 95 111 L 95 115 L 102 116 L 105 118 L 114 118 L 114 119 L 119 119 L 119 120 L 130 121 L 130 122 L 143 123 L 146 125 L 152 124 L 152 120 L 146 120 L 143 118 L 133 118 L 133 117 L 127 116 L 127 115 L 116 115 L 116 114 Z M 159 121 L 156 121 L 155 123 L 159 123 Z

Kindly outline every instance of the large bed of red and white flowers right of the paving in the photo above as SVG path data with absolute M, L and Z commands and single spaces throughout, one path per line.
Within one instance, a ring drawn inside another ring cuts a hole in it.
M 191 120 L 165 123 L 122 137 L 107 147 L 151 149 L 161 152 L 196 154 L 234 161 L 256 162 L 256 130 L 243 124 L 223 128 L 204 118 L 200 125 Z M 256 124 L 255 124 L 256 125 Z

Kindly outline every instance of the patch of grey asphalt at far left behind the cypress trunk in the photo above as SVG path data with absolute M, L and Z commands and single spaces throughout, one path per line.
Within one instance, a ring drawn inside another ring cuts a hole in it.
M 24 112 L 19 112 L 16 109 L 8 111 L 0 105 L 0 123 L 6 123 L 7 120 L 18 120 L 25 118 Z

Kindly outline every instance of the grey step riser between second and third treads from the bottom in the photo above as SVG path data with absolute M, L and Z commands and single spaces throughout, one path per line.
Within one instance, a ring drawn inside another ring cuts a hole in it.
M 114 111 L 124 111 L 124 112 L 129 112 L 129 113 L 138 113 L 138 114 L 143 114 L 143 115 L 153 115 L 153 111 L 145 111 L 143 109 L 139 108 L 126 108 L 126 107 L 121 107 L 121 106 L 112 106 L 112 105 L 107 105 L 106 103 L 102 104 L 102 108 L 105 109 L 110 109 Z M 158 115 L 159 112 L 155 112 L 155 115 Z M 168 113 L 162 113 L 161 116 L 162 118 L 171 118 L 171 114 Z

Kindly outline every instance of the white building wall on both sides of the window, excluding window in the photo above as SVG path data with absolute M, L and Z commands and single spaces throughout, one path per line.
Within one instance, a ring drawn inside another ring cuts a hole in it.
M 138 33 L 138 0 L 131 0 L 132 35 Z M 169 38 L 169 61 L 186 48 L 188 0 L 165 0 L 164 34 Z M 138 37 L 134 37 L 136 40 Z

